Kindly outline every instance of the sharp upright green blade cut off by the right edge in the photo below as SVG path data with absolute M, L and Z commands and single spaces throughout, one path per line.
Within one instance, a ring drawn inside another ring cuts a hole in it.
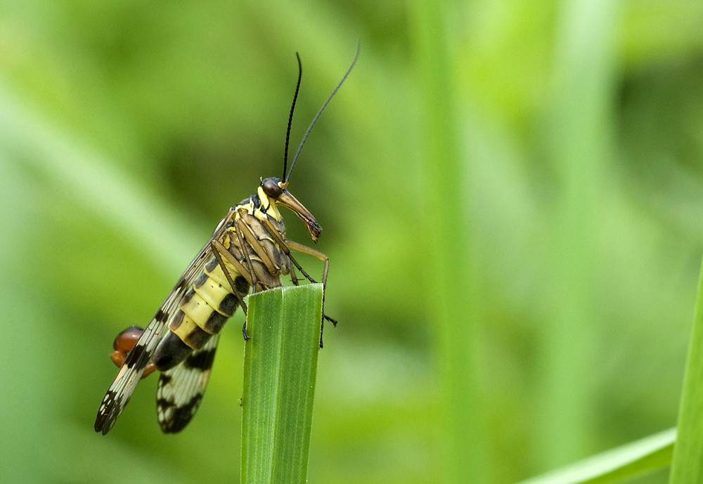
M 703 479 L 703 266 L 699 275 L 693 329 L 683 377 L 678 438 L 671 463 L 670 484 Z

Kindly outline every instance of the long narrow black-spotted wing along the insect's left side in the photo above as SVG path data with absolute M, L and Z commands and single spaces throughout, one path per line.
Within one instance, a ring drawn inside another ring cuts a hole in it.
M 127 359 L 124 360 L 124 364 L 120 371 L 117 372 L 115 380 L 112 381 L 100 404 L 95 420 L 96 432 L 102 432 L 105 435 L 115 425 L 117 417 L 120 417 L 122 410 L 124 410 L 131 394 L 134 392 L 134 388 L 136 388 L 136 384 L 141 379 L 151 355 L 163 338 L 169 320 L 176 314 L 176 309 L 183 294 L 191 286 L 195 277 L 202 272 L 202 267 L 205 266 L 205 263 L 212 255 L 210 242 L 222 234 L 233 217 L 234 211 L 230 210 L 227 216 L 220 221 L 210 240 L 200 249 L 198 255 L 195 256 L 195 259 L 191 261 L 188 268 L 183 272 L 183 275 L 176 282 L 169 295 L 166 296 L 166 299 L 134 345 L 134 348 L 127 355 Z

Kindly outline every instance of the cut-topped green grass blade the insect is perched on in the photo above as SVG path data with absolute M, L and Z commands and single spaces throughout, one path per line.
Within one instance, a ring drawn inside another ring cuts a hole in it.
M 304 483 L 322 321 L 322 284 L 249 298 L 243 484 Z

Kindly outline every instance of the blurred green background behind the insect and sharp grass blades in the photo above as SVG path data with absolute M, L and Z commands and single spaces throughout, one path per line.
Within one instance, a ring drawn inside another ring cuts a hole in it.
M 703 2 L 0 0 L 4 482 L 238 480 L 241 315 L 175 437 L 153 378 L 93 433 L 112 339 L 280 176 L 295 51 L 293 145 L 357 40 L 290 183 L 340 320 L 309 480 L 510 483 L 676 424 Z

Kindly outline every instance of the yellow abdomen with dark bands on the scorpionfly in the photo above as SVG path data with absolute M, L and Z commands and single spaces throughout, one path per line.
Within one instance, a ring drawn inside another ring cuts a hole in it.
M 235 268 L 227 265 L 235 290 L 244 297 L 249 283 Z M 170 369 L 185 360 L 194 349 L 204 346 L 213 334 L 219 334 L 224 323 L 234 314 L 238 298 L 217 263 L 210 259 L 205 270 L 183 295 L 169 332 L 161 340 L 152 360 L 158 369 Z

